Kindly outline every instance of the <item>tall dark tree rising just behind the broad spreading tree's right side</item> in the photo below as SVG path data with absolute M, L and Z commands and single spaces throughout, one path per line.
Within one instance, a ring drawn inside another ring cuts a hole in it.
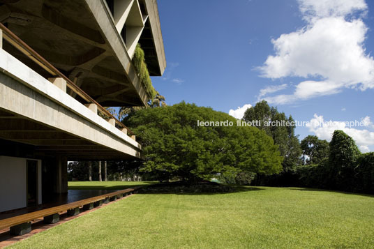
M 267 101 L 262 100 L 254 107 L 246 110 L 243 117 L 244 121 L 254 123 L 257 128 L 264 130 L 267 135 L 274 139 L 274 143 L 278 144 L 280 155 L 284 157 L 283 169 L 292 169 L 301 164 L 301 148 L 297 135 L 294 135 L 295 126 L 287 126 L 294 122 L 292 116 L 286 116 L 284 112 L 278 112 L 276 107 L 269 107 Z M 269 125 L 273 122 L 280 125 Z

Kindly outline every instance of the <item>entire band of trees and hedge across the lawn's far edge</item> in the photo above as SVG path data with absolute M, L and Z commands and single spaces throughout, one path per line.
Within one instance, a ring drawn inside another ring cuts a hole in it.
M 118 116 L 140 137 L 145 160 L 107 162 L 108 180 L 216 179 L 374 193 L 374 153 L 362 154 L 341 130 L 334 132 L 331 142 L 313 135 L 300 142 L 294 126 L 264 125 L 294 121 L 266 101 L 244 114 L 243 121 L 260 120 L 257 127 L 237 126 L 232 116 L 207 107 L 184 102 L 167 106 L 159 94 L 149 106 L 121 108 Z M 234 126 L 199 127 L 197 121 L 232 121 Z M 89 180 L 88 168 L 88 162 L 70 163 L 70 179 Z M 98 162 L 91 163 L 93 181 L 99 179 L 99 168 Z

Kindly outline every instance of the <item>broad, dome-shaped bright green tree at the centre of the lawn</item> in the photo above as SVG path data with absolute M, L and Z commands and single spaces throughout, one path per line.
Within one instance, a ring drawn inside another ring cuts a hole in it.
M 232 126 L 200 126 L 198 121 L 227 121 Z M 124 122 L 142 139 L 146 159 L 142 170 L 160 180 L 196 181 L 239 172 L 274 174 L 282 169 L 282 157 L 271 137 L 257 128 L 237 127 L 236 119 L 211 108 L 182 102 L 139 110 Z

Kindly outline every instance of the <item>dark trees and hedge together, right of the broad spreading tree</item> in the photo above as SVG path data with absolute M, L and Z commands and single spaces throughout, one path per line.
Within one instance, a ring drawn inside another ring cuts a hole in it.
M 293 121 L 266 101 L 248 108 L 244 121 Z M 264 123 L 264 122 L 262 122 Z M 283 171 L 264 176 L 256 174 L 251 184 L 260 186 L 299 186 L 360 193 L 374 193 L 374 153 L 362 154 L 352 137 L 336 130 L 331 142 L 309 135 L 301 142 L 294 127 L 259 126 L 273 137 L 283 156 Z

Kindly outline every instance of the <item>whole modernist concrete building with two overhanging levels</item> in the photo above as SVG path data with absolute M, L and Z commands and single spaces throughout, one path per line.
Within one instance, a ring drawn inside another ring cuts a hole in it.
M 163 74 L 156 0 L 0 0 L 0 20 L 0 212 L 66 193 L 68 160 L 141 158 L 103 106 L 147 105 L 137 43 Z

